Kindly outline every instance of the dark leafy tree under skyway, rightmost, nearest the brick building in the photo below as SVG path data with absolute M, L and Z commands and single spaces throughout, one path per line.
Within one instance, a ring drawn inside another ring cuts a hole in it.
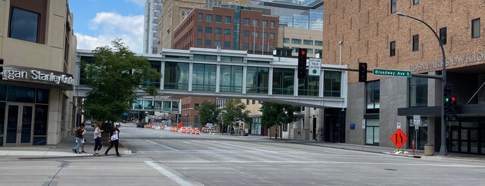
M 300 119 L 301 117 L 300 115 L 295 114 L 296 112 L 300 112 L 300 107 L 296 105 L 287 105 L 264 101 L 263 103 L 261 103 L 261 108 L 259 108 L 259 111 L 261 111 L 263 114 L 261 117 L 262 126 L 266 126 L 267 128 L 269 128 L 270 132 L 272 126 L 289 124 L 293 121 L 298 121 L 298 119 Z M 280 130 L 280 137 L 281 133 L 282 131 Z

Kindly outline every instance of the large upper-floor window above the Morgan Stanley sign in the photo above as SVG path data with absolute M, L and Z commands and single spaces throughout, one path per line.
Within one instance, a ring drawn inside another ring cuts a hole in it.
M 40 14 L 37 12 L 12 8 L 8 37 L 37 42 L 39 39 L 39 19 Z

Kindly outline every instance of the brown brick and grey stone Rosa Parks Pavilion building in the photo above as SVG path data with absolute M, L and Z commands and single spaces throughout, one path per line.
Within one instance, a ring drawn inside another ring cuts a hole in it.
M 325 1 L 323 62 L 337 64 L 341 57 L 350 68 L 367 62 L 373 70 L 365 83 L 358 82 L 357 72 L 349 73 L 348 103 L 353 104 L 343 124 L 346 142 L 365 139 L 366 145 L 393 147 L 389 138 L 400 126 L 409 139 L 405 148 L 416 139 L 418 149 L 432 144 L 441 154 L 485 155 L 484 8 L 482 1 Z M 439 38 L 398 12 L 425 22 Z M 445 83 L 457 99 L 456 110 L 446 117 L 441 115 L 443 66 Z M 411 71 L 412 76 L 375 69 Z

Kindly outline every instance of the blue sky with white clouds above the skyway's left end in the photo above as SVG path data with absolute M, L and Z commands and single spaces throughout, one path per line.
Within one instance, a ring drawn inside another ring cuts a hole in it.
M 119 38 L 135 53 L 143 52 L 146 0 L 69 0 L 77 49 L 110 46 Z

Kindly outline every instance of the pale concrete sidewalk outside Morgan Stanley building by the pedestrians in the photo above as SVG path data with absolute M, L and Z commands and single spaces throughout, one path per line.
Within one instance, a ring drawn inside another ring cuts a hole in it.
M 60 144 L 54 146 L 54 145 L 46 145 L 46 146 L 2 146 L 0 147 L 0 156 L 6 155 L 6 156 L 18 156 L 19 158 L 69 158 L 69 157 L 76 157 L 76 158 L 82 158 L 82 157 L 93 157 L 93 149 L 94 149 L 94 128 L 92 128 L 90 123 L 86 124 L 86 140 L 87 142 L 85 143 L 84 146 L 84 151 L 87 153 L 81 153 L 81 154 L 76 154 L 72 152 L 72 149 L 74 146 L 76 146 L 76 136 L 75 135 L 70 135 L 62 141 Z M 121 140 L 122 142 L 123 140 Z M 105 146 L 103 144 L 103 148 L 100 151 L 100 155 L 104 155 L 104 151 L 109 146 Z M 81 149 L 79 149 L 81 150 Z M 119 153 L 121 155 L 131 153 L 126 147 L 120 146 L 118 149 Z M 110 150 L 108 155 L 116 156 L 114 152 L 114 147 Z

